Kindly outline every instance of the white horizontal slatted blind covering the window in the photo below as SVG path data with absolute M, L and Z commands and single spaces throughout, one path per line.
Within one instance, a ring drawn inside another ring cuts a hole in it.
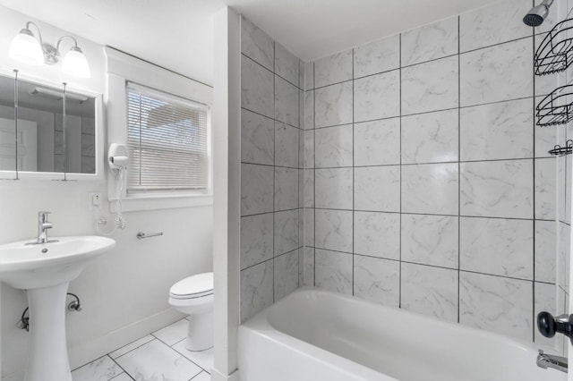
M 207 190 L 209 108 L 133 82 L 127 93 L 127 191 Z

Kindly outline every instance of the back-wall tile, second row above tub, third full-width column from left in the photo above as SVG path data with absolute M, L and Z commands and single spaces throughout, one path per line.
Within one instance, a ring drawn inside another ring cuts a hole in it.
M 402 260 L 458 268 L 458 216 L 402 215 Z

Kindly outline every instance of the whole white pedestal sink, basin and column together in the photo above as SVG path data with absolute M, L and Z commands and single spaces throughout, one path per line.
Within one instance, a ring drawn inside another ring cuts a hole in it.
M 115 246 L 107 237 L 56 237 L 0 245 L 0 280 L 27 290 L 30 307 L 30 352 L 24 381 L 72 381 L 65 342 L 65 297 L 68 284 L 90 259 Z

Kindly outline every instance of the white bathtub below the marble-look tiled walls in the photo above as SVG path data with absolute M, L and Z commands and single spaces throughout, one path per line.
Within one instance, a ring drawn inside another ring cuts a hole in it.
M 302 289 L 239 326 L 241 381 L 561 381 L 499 334 Z

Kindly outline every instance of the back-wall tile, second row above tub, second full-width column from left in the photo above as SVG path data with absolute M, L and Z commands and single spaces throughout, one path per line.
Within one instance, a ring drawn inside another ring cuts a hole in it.
M 400 258 L 400 215 L 398 213 L 355 212 L 355 254 Z

